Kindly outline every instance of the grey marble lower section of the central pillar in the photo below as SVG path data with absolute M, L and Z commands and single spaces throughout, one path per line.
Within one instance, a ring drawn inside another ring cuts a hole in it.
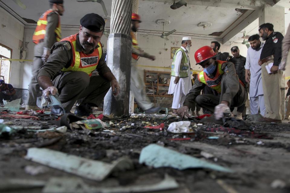
M 122 33 L 109 35 L 107 65 L 120 84 L 120 93 L 114 96 L 112 88 L 104 98 L 104 114 L 129 115 L 132 38 Z

